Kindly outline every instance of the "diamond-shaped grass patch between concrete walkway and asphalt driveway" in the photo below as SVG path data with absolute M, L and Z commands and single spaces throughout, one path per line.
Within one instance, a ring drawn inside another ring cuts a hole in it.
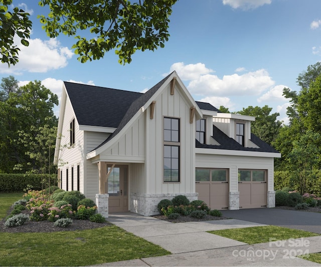
M 270 240 L 286 240 L 290 238 L 319 235 L 317 233 L 274 225 L 217 230 L 209 231 L 209 233 L 221 235 L 248 244 L 264 243 L 269 242 Z

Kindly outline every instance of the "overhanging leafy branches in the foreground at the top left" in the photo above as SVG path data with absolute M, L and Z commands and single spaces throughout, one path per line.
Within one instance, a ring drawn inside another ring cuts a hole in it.
M 116 49 L 120 64 L 130 63 L 131 56 L 137 50 L 154 51 L 163 48 L 169 39 L 169 17 L 172 6 L 177 0 L 95 0 L 65 1 L 40 0 L 41 7 L 49 7 L 47 16 L 38 16 L 50 38 L 59 34 L 74 36 L 78 41 L 72 46 L 78 60 L 96 60 L 110 50 Z M 28 46 L 32 22 L 29 14 L 15 8 L 8 11 L 12 0 L 0 4 L 0 18 L 4 22 L 0 27 L 1 61 L 15 65 L 18 62 L 19 49 L 14 46 L 13 38 L 17 34 L 21 43 Z M 79 35 L 82 34 L 82 36 Z M 85 36 L 91 35 L 87 40 Z

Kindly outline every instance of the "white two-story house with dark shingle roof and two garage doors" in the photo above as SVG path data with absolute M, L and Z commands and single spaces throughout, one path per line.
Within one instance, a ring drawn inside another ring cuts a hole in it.
M 251 134 L 254 120 L 194 101 L 176 72 L 144 94 L 64 82 L 60 187 L 96 200 L 105 216 L 157 214 L 179 194 L 211 209 L 274 207 L 280 153 Z

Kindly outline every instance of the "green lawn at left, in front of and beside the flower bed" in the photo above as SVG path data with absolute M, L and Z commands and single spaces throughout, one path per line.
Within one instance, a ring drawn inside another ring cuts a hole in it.
M 0 194 L 0 218 L 23 193 Z M 115 226 L 49 233 L 0 232 L 0 266 L 86 266 L 171 254 Z

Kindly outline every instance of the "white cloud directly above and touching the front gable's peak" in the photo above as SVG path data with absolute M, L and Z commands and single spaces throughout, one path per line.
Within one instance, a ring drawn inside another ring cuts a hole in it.
M 177 62 L 171 66 L 170 72 L 163 74 L 163 76 L 167 76 L 173 71 L 176 71 L 180 78 L 185 81 L 196 80 L 201 75 L 214 72 L 213 70 L 206 68 L 203 63 L 184 65 L 184 62 Z

